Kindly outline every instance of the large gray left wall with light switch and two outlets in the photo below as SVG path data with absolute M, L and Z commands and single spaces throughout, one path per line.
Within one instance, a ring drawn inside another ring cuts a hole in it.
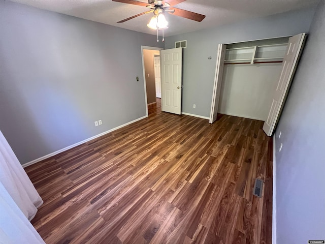
M 0 0 L 0 130 L 20 162 L 145 116 L 141 45 L 159 44 Z

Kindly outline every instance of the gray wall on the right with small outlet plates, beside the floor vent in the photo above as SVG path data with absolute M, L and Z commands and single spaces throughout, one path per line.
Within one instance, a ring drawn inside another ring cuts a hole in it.
M 279 244 L 325 239 L 324 45 L 325 4 L 321 1 L 276 129 Z

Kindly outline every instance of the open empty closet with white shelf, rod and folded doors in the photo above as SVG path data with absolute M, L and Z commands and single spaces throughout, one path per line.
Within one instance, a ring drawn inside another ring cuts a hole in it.
M 272 134 L 273 120 L 278 120 L 304 40 L 305 34 L 299 34 L 219 44 L 210 123 L 214 122 L 216 112 L 258 119 L 269 121 L 266 133 Z M 284 59 L 287 61 L 283 62 Z M 281 90 L 283 96 L 275 99 L 276 90 Z

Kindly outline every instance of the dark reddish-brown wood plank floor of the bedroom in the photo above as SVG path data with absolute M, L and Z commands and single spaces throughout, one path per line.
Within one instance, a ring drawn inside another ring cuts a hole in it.
M 25 168 L 46 243 L 270 243 L 272 138 L 262 121 L 160 111 Z M 255 178 L 263 197 L 252 195 Z

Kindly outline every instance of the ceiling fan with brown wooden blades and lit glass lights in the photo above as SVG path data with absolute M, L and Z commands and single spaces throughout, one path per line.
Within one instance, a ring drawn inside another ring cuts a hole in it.
M 153 13 L 154 17 L 151 19 L 150 22 L 152 22 L 153 19 L 155 18 L 154 24 L 156 24 L 156 26 L 151 25 L 151 27 L 150 27 L 150 23 L 149 23 L 148 27 L 154 28 L 154 29 L 164 29 L 164 28 L 168 28 L 168 26 L 167 26 L 168 23 L 164 16 L 165 12 L 168 12 L 169 14 L 177 15 L 177 16 L 180 16 L 183 18 L 195 20 L 198 22 L 201 22 L 205 18 L 205 15 L 173 7 L 174 5 L 185 2 L 186 0 L 168 0 L 168 1 L 149 0 L 148 3 L 144 3 L 144 2 L 140 2 L 140 1 L 136 1 L 136 0 L 112 0 L 112 1 L 118 2 L 118 3 L 124 3 L 124 4 L 133 4 L 133 5 L 138 5 L 138 6 L 144 6 L 144 7 L 151 9 L 149 11 L 134 15 L 132 17 L 128 17 L 123 20 L 120 20 L 117 23 L 123 23 L 127 20 L 136 18 L 138 16 L 148 14 L 148 13 Z M 160 25 L 159 25 L 159 20 L 160 20 Z

